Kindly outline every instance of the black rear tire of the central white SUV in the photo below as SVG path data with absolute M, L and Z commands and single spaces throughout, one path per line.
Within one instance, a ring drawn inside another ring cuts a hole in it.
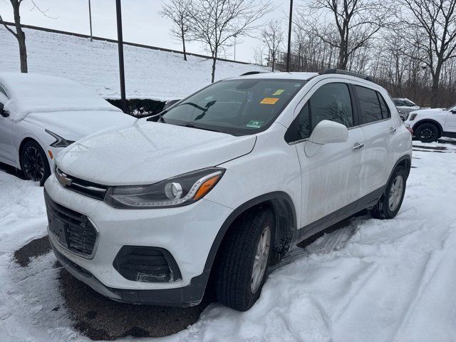
M 398 192 L 398 195 L 400 195 L 400 197 L 398 198 L 398 202 L 396 204 L 395 202 L 393 202 L 393 199 L 391 199 L 390 194 L 393 191 L 393 186 L 397 185 L 397 183 L 395 182 L 397 182 L 398 177 L 402 179 L 403 187 L 400 193 Z M 403 167 L 398 166 L 395 168 L 393 175 L 390 178 L 390 181 L 386 185 L 382 197 L 380 197 L 377 204 L 375 204 L 375 206 L 372 208 L 372 216 L 375 217 L 375 219 L 393 219 L 393 217 L 395 217 L 396 214 L 398 214 L 400 206 L 402 205 L 406 185 L 407 172 L 405 172 L 405 169 Z M 392 207 L 392 204 L 395 205 L 393 205 Z

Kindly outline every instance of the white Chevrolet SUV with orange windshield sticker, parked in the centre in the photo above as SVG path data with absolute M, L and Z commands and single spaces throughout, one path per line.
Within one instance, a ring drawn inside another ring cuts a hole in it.
M 45 185 L 57 259 L 116 301 L 196 305 L 210 275 L 222 304 L 247 310 L 291 245 L 402 204 L 411 135 L 361 76 L 239 76 L 156 119 L 67 147 Z

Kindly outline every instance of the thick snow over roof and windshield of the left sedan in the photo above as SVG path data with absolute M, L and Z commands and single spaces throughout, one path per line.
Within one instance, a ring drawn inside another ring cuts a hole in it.
M 14 121 L 23 120 L 30 113 L 120 111 L 93 90 L 66 78 L 33 73 L 0 73 L 0 84 L 9 95 L 4 108 Z

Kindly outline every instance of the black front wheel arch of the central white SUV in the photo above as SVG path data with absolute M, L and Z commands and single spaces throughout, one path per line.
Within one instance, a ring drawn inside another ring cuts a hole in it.
M 293 200 L 286 192 L 269 192 L 241 204 L 237 209 L 234 209 L 229 217 L 227 217 L 222 224 L 222 227 L 219 229 L 214 242 L 212 242 L 212 247 L 209 250 L 209 255 L 206 259 L 206 264 L 204 265 L 204 271 L 212 269 L 220 247 L 224 243 L 224 240 L 229 236 L 230 228 L 233 227 L 232 224 L 249 210 L 263 208 L 271 209 L 276 218 L 274 252 L 281 255 L 288 251 L 296 232 L 296 209 Z

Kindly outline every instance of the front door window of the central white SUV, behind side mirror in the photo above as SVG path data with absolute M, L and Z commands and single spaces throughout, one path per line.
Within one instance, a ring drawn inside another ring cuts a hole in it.
M 345 83 L 328 83 L 318 88 L 286 131 L 285 141 L 296 142 L 309 138 L 322 120 L 353 127 L 353 108 Z

